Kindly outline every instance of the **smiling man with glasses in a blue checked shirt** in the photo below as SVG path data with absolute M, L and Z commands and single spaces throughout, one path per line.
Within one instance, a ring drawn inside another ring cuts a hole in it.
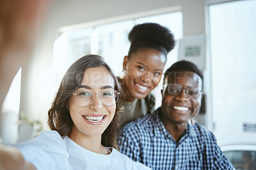
M 195 64 L 173 64 L 164 73 L 162 106 L 123 127 L 120 152 L 152 169 L 234 169 L 214 135 L 190 121 L 200 110 L 202 87 Z

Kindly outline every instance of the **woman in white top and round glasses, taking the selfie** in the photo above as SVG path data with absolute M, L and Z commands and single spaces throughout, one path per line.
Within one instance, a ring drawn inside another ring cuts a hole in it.
M 48 112 L 52 131 L 16 145 L 30 169 L 150 169 L 116 148 L 120 85 L 98 55 L 69 67 Z

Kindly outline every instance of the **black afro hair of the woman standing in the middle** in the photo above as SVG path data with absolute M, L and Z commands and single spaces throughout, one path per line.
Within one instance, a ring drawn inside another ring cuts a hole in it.
M 135 25 L 128 38 L 131 41 L 128 57 L 141 48 L 152 48 L 166 56 L 175 46 L 172 32 L 156 23 Z

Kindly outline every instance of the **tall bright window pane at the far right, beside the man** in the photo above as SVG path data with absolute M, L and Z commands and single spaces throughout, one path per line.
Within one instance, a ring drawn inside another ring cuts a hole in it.
M 219 145 L 256 143 L 256 1 L 209 6 L 212 121 Z M 248 131 L 250 130 L 250 131 Z

